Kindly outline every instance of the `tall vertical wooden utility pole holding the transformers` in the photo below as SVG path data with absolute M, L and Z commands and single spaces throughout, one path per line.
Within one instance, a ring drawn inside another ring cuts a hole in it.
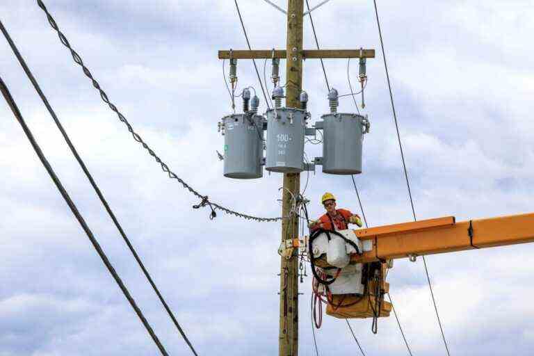
M 286 45 L 286 107 L 300 107 L 302 91 L 302 23 L 304 0 L 288 0 Z M 292 199 L 300 193 L 300 173 L 284 174 L 282 189 L 282 241 L 298 236 L 298 217 L 290 216 Z M 293 197 L 292 197 L 293 196 Z M 280 268 L 279 355 L 298 355 L 298 250 L 282 257 Z

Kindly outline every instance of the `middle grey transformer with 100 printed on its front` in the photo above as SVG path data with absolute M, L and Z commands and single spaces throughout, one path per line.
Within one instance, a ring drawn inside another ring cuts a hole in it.
M 265 169 L 298 173 L 304 170 L 306 113 L 298 108 L 267 111 L 267 152 Z

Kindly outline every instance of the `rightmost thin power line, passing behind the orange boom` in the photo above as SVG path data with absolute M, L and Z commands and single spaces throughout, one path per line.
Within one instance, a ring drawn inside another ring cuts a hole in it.
M 413 216 L 414 216 L 414 221 L 417 221 L 417 218 L 416 218 L 416 215 L 415 215 L 414 200 L 413 200 L 413 197 L 412 197 L 412 190 L 410 189 L 410 180 L 408 179 L 408 170 L 406 168 L 406 162 L 405 162 L 405 159 L 404 159 L 403 145 L 401 143 L 401 133 L 398 130 L 397 113 L 396 113 L 396 110 L 395 110 L 395 103 L 394 103 L 394 100 L 393 100 L 393 90 L 391 90 L 391 81 L 389 80 L 389 71 L 387 70 L 387 59 L 386 59 L 386 54 L 385 54 L 385 49 L 384 49 L 384 40 L 382 38 L 382 29 L 380 28 L 380 19 L 378 17 L 378 8 L 376 6 L 376 0 L 373 0 L 373 3 L 375 5 L 375 15 L 376 15 L 376 24 L 378 26 L 378 34 L 380 35 L 380 47 L 382 47 L 382 58 L 384 59 L 384 67 L 385 67 L 386 78 L 387 78 L 387 87 L 389 89 L 389 99 L 391 100 L 391 108 L 393 110 L 393 117 L 394 117 L 394 120 L 395 120 L 395 128 L 396 128 L 396 131 L 397 131 L 398 147 L 401 149 L 401 159 L 403 160 L 404 176 L 405 176 L 405 179 L 406 179 L 406 186 L 407 186 L 407 189 L 408 189 L 408 195 L 410 197 L 410 204 L 412 206 L 412 213 L 413 213 Z M 437 323 L 439 324 L 439 330 L 441 330 L 441 332 L 442 332 L 442 339 L 443 339 L 443 343 L 445 345 L 445 349 L 447 351 L 447 355 L 451 356 L 451 353 L 449 353 L 449 351 L 448 351 L 448 345 L 447 345 L 447 341 L 445 339 L 445 333 L 443 331 L 442 321 L 439 318 L 439 313 L 437 312 L 437 305 L 436 305 L 436 300 L 435 300 L 435 297 L 434 297 L 434 291 L 432 291 L 432 283 L 430 282 L 430 275 L 428 274 L 428 268 L 426 266 L 426 259 L 425 259 L 424 256 L 423 256 L 423 264 L 425 266 L 426 279 L 428 280 L 428 288 L 430 289 L 430 295 L 432 296 L 432 303 L 434 304 L 434 309 L 435 309 L 436 317 L 437 317 Z

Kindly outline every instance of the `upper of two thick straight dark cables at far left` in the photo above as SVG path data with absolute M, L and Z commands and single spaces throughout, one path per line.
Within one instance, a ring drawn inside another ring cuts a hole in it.
M 22 66 L 22 69 L 24 70 L 24 72 L 26 72 L 26 75 L 28 76 L 29 80 L 33 84 L 33 88 L 35 88 L 35 91 L 38 92 L 38 95 L 40 96 L 42 102 L 44 103 L 44 106 L 47 107 L 47 110 L 50 113 L 52 119 L 54 119 L 54 122 L 56 123 L 56 126 L 58 127 L 59 131 L 63 135 L 63 138 L 65 139 L 65 142 L 69 146 L 70 151 L 72 152 L 72 154 L 74 154 L 74 157 L 76 158 L 76 161 L 78 161 L 81 169 L 85 173 L 87 179 L 90 181 L 90 184 L 91 184 L 92 188 L 97 193 L 97 195 L 98 195 L 98 197 L 100 199 L 100 202 L 102 202 L 102 204 L 104 205 L 104 208 L 106 208 L 106 211 L 108 212 L 108 215 L 110 216 L 111 220 L 113 220 L 113 223 L 115 224 L 115 227 L 117 227 L 117 229 L 120 232 L 120 235 L 122 236 L 124 242 L 128 245 L 128 248 L 129 248 L 131 254 L 133 254 L 133 257 L 136 259 L 136 261 L 137 261 L 138 265 L 140 266 L 141 270 L 143 270 L 143 273 L 145 274 L 145 277 L 147 277 L 147 280 L 150 283 L 150 285 L 152 286 L 152 289 L 154 289 L 154 291 L 156 292 L 156 295 L 158 296 L 159 300 L 161 301 L 161 304 L 163 305 L 163 307 L 165 308 L 165 310 L 169 314 L 170 318 L 172 319 L 172 322 L 175 323 L 175 326 L 177 327 L 177 329 L 180 332 L 181 336 L 184 338 L 184 340 L 188 344 L 189 348 L 191 348 L 191 351 L 193 351 L 193 354 L 195 356 L 197 356 L 197 353 L 195 351 L 195 348 L 193 348 L 193 345 L 191 344 L 191 341 L 189 341 L 189 339 L 186 337 L 186 334 L 185 334 L 184 330 L 182 330 L 182 328 L 180 327 L 177 319 L 175 318 L 175 315 L 170 310 L 170 307 L 168 306 L 167 302 L 165 302 L 165 299 L 163 298 L 163 296 L 161 296 L 161 293 L 160 293 L 158 287 L 156 286 L 156 284 L 154 283 L 154 280 L 152 280 L 152 277 L 150 276 L 150 274 L 148 273 L 147 269 L 145 268 L 145 265 L 143 264 L 143 261 L 141 261 L 141 259 L 138 256 L 135 248 L 133 248 L 133 245 L 131 245 L 131 242 L 129 241 L 129 238 L 127 237 L 126 233 L 124 232 L 124 229 L 122 229 L 122 226 L 120 225 L 117 217 L 115 216 L 115 213 L 113 213 L 113 210 L 111 210 L 111 207 L 109 206 L 106 198 L 102 194 L 102 191 L 100 191 L 100 188 L 98 187 L 97 183 L 95 182 L 95 179 L 93 179 L 93 177 L 92 177 L 91 173 L 89 172 L 86 164 L 83 162 L 83 159 L 81 159 L 81 157 L 79 156 L 78 151 L 76 150 L 76 147 L 74 147 L 74 144 L 72 143 L 72 141 L 70 140 L 67 132 L 63 128 L 63 124 L 61 124 L 60 120 L 58 119 L 58 117 L 57 117 L 57 115 L 56 115 L 56 113 L 54 111 L 54 109 L 49 104 L 47 97 L 42 92 L 42 90 L 41 90 L 41 88 L 39 86 L 39 83 L 37 82 L 37 80 L 35 80 L 35 76 L 33 76 L 33 73 L 31 72 L 30 68 L 26 64 L 26 61 L 24 60 L 24 58 L 20 54 L 19 49 L 17 49 L 17 46 L 16 46 L 15 42 L 10 37 L 6 27 L 3 26 L 1 21 L 0 21 L 0 30 L 2 31 L 2 33 L 3 33 L 4 37 L 6 38 L 6 40 L 8 41 L 11 49 L 13 50 L 13 53 L 15 54 L 17 59 L 19 60 L 19 63 Z

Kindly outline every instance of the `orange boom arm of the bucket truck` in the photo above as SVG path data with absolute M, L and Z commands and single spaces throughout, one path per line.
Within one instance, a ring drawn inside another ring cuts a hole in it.
M 534 213 L 455 223 L 453 217 L 355 230 L 373 250 L 358 263 L 534 242 Z

